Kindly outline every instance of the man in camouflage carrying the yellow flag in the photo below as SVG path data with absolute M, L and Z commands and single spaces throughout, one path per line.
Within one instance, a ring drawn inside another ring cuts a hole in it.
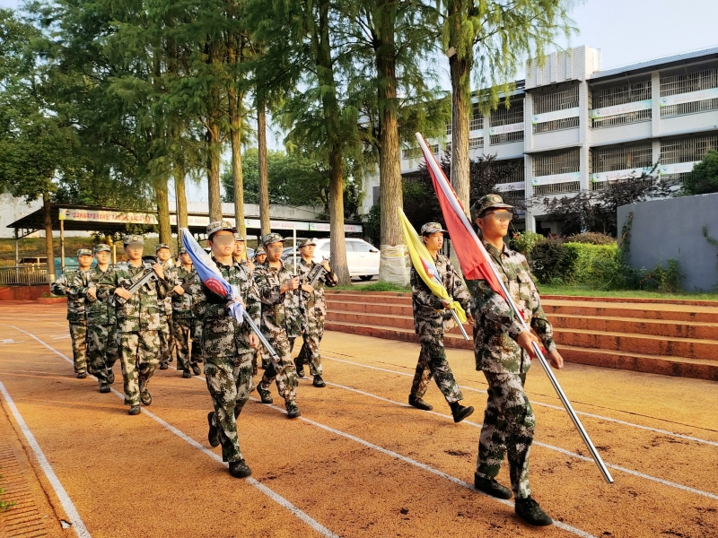
M 444 231 L 446 230 L 443 230 L 442 225 L 438 222 L 428 222 L 421 227 L 422 239 L 426 250 L 433 257 L 433 263 L 436 265 L 436 271 L 443 287 L 449 293 L 449 296 L 458 301 L 461 308 L 468 312 L 470 297 L 466 286 L 459 274 L 451 267 L 449 258 L 439 254 L 443 246 Z M 442 391 L 443 397 L 446 398 L 446 402 L 451 407 L 454 422 L 463 421 L 474 412 L 474 408 L 471 406 L 464 407 L 460 404 L 464 396 L 461 394 L 449 362 L 446 360 L 446 350 L 443 346 L 443 335 L 455 326 L 449 309 L 451 301 L 436 297 L 416 273 L 413 266 L 410 273 L 410 282 L 411 302 L 414 308 L 414 328 L 416 334 L 419 335 L 421 351 L 416 364 L 414 383 L 411 385 L 409 404 L 425 411 L 433 409 L 431 405 L 426 404 L 422 399 L 426 394 L 429 381 L 433 377 L 436 385 L 439 386 L 439 390 Z M 473 323 L 473 319 L 468 317 L 468 322 Z

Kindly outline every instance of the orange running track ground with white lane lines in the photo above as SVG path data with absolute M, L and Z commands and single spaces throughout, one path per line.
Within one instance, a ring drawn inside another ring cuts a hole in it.
M 448 351 L 464 404 L 476 408 L 454 424 L 435 385 L 433 412 L 407 405 L 416 344 L 326 334 L 328 386 L 300 381 L 300 420 L 286 419 L 276 386 L 275 406 L 254 393 L 241 413 L 250 480 L 233 479 L 207 443 L 203 377 L 158 370 L 153 404 L 130 417 L 121 376 L 117 393 L 101 395 L 91 377 L 74 377 L 71 355 L 64 305 L 0 305 L 0 433 L 22 447 L 27 480 L 44 490 L 48 535 L 718 536 L 714 382 L 574 364 L 559 372 L 609 485 L 535 364 L 530 480 L 556 520 L 537 529 L 471 486 L 486 382 L 470 351 Z M 505 465 L 498 479 L 508 485 Z M 12 510 L 0 514 L 0 534 Z

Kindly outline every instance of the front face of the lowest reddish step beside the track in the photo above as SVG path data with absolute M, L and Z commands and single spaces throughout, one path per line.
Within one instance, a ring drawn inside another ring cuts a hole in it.
M 418 343 L 419 341 L 414 331 L 407 329 L 339 321 L 327 321 L 325 327 L 328 331 L 337 331 L 340 333 L 362 334 L 374 338 L 386 338 L 404 342 Z M 474 349 L 473 341 L 466 342 L 457 334 L 447 334 L 444 338 L 444 344 L 449 348 Z M 646 353 L 585 349 L 567 345 L 559 345 L 558 349 L 566 361 L 575 362 L 577 364 L 626 369 L 664 376 L 693 377 L 696 379 L 718 381 L 718 361 L 716 360 L 698 360 L 675 356 L 656 356 Z

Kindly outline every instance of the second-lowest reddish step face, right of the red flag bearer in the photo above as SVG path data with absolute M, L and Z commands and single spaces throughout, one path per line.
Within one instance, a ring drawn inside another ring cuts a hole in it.
M 668 338 L 651 334 L 597 332 L 554 328 L 556 343 L 594 350 L 623 351 L 648 355 L 718 361 L 718 341 L 698 338 Z

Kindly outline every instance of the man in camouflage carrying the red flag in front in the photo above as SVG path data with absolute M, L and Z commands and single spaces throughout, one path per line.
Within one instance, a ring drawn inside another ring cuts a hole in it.
M 504 286 L 538 337 L 522 328 L 506 300 L 486 281 L 469 281 L 476 318 L 477 369 L 484 372 L 488 383 L 474 484 L 477 490 L 499 499 L 511 499 L 513 492 L 518 516 L 531 525 L 551 525 L 551 517 L 531 498 L 529 452 L 536 421 L 523 386 L 533 356 L 532 342 L 546 348 L 554 368 L 562 368 L 564 360 L 556 351 L 553 329 L 541 308 L 526 258 L 503 243 L 512 220 L 511 209 L 501 196 L 486 195 L 471 207 L 471 218 Z M 495 480 L 506 455 L 511 490 Z

